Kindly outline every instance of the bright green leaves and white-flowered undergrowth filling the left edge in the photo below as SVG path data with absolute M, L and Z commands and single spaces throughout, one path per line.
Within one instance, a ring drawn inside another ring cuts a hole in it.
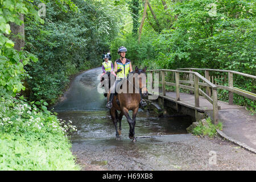
M 60 9 L 68 5 L 76 11 L 70 0 L 56 0 L 55 3 Z M 66 133 L 76 129 L 61 123 L 50 113 L 47 102 L 36 102 L 42 109 L 39 110 L 35 104 L 30 106 L 10 97 L 24 90 L 22 80 L 30 78 L 24 66 L 31 64 L 30 60 L 38 61 L 32 53 L 14 49 L 10 23 L 19 26 L 24 23 L 19 19 L 20 14 L 34 22 L 44 23 L 31 1 L 0 1 L 0 170 L 79 169 Z

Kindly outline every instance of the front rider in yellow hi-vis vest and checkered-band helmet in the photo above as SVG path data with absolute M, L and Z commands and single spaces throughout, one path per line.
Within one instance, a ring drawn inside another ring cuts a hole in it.
M 125 58 L 126 52 L 127 52 L 126 47 L 121 46 L 118 48 L 118 54 L 120 55 L 120 58 L 118 60 L 115 60 L 114 70 L 115 70 L 115 73 L 117 73 L 117 78 L 119 79 L 115 80 L 112 90 L 110 92 L 109 102 L 106 104 L 106 107 L 108 107 L 109 109 L 111 109 L 112 107 L 112 101 L 115 94 L 115 86 L 123 78 L 127 78 L 127 76 L 129 75 L 129 72 L 133 71 L 133 68 L 131 67 L 131 60 Z M 141 94 L 141 105 L 142 106 L 147 105 L 146 101 L 142 99 L 142 94 Z

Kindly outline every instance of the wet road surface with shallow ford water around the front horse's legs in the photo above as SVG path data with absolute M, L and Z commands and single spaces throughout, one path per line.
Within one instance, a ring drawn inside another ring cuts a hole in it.
M 221 138 L 186 134 L 187 117 L 158 118 L 139 110 L 135 126 L 137 142 L 128 137 L 122 119 L 122 140 L 105 108 L 106 98 L 97 92 L 101 68 L 77 76 L 63 99 L 54 106 L 58 117 L 71 120 L 78 129 L 71 136 L 72 152 L 84 170 L 255 170 L 256 155 Z M 147 136 L 147 137 L 145 137 Z M 150 137 L 154 136 L 154 137 Z

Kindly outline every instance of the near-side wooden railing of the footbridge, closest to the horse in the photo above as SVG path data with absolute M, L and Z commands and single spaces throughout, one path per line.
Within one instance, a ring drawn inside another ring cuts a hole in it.
M 162 77 L 162 90 L 163 90 L 163 96 L 166 96 L 166 85 L 175 86 L 176 87 L 176 101 L 180 101 L 180 88 L 191 90 L 195 93 L 195 107 L 200 107 L 199 103 L 199 94 L 204 96 L 212 105 L 213 105 L 213 120 L 214 123 L 218 123 L 218 98 L 217 98 L 217 86 L 214 85 L 212 82 L 207 80 L 204 76 L 201 76 L 197 72 L 192 71 L 179 71 L 174 69 L 153 69 L 149 70 L 147 72 L 150 72 L 151 75 L 153 75 L 153 72 L 160 72 L 160 75 Z M 167 82 L 165 80 L 165 73 L 166 72 L 172 72 L 175 75 L 175 82 Z M 187 73 L 189 74 L 189 80 L 180 80 L 180 73 Z M 203 80 L 203 82 L 199 82 L 199 80 Z M 154 83 L 154 82 L 153 82 Z M 188 85 L 182 85 L 182 84 L 190 84 Z M 211 89 L 212 91 L 212 98 L 209 96 L 209 94 L 205 93 L 203 90 L 199 88 L 199 85 L 206 86 L 208 89 Z

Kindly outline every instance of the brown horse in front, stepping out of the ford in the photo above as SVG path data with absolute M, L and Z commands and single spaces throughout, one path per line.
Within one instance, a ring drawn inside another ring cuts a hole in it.
M 127 122 L 129 123 L 129 138 L 131 141 L 136 142 L 137 139 L 135 137 L 135 123 L 136 123 L 136 115 L 139 110 L 139 103 L 141 101 L 141 94 L 143 97 L 148 95 L 147 87 L 146 87 L 146 67 L 144 69 L 135 68 L 135 71 L 130 72 L 133 73 L 133 82 L 129 81 L 129 77 L 125 82 L 127 86 L 126 93 L 118 93 L 114 96 L 112 102 L 112 108 L 110 109 L 110 115 L 112 117 L 112 121 L 115 126 L 115 136 L 117 140 L 121 140 L 121 121 L 123 115 L 125 115 Z M 144 78 L 144 80 L 143 80 Z M 130 88 L 130 89 L 129 89 Z M 132 93 L 129 93 L 129 90 L 133 90 Z M 107 95 L 109 101 L 110 91 Z M 129 110 L 133 111 L 133 118 L 129 116 Z M 117 111 L 121 111 L 119 114 Z M 117 128 L 117 123 L 119 122 L 119 128 Z

